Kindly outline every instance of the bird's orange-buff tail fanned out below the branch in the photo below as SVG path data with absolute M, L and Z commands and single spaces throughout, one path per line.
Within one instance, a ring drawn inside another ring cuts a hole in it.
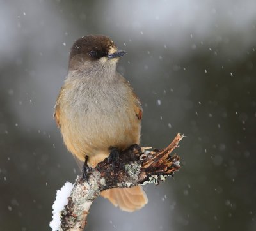
M 102 197 L 107 198 L 113 205 L 119 206 L 126 212 L 133 212 L 141 209 L 148 202 L 146 193 L 141 186 L 132 188 L 112 188 L 101 193 Z

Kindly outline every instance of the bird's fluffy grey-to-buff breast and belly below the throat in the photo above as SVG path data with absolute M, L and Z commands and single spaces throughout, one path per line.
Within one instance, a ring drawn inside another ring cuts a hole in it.
M 109 147 L 125 149 L 140 142 L 136 98 L 124 80 L 108 86 L 66 82 L 58 108 L 61 133 L 68 150 L 79 160 L 89 156 L 96 165 L 109 155 Z

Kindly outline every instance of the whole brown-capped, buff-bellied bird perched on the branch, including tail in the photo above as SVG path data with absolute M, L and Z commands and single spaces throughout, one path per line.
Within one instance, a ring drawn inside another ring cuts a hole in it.
M 131 84 L 116 71 L 118 50 L 105 35 L 76 40 L 69 55 L 68 73 L 54 107 L 54 119 L 68 151 L 94 168 L 111 154 L 140 144 L 143 109 Z M 112 188 L 102 197 L 123 211 L 147 204 L 141 186 Z

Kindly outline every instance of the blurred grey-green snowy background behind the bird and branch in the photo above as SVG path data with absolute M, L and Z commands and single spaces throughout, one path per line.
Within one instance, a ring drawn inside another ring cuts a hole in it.
M 132 214 L 97 198 L 90 231 L 256 230 L 256 2 L 0 1 L 0 226 L 50 230 L 80 174 L 52 119 L 74 40 L 106 34 L 143 102 L 141 144 L 180 132 L 175 179 Z

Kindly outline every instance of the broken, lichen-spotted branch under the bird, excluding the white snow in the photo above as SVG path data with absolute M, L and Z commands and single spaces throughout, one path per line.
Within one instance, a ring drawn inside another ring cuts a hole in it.
M 167 176 L 179 170 L 179 156 L 172 153 L 184 136 L 179 133 L 163 151 L 147 151 L 139 145 L 132 145 L 120 154 L 118 166 L 109 165 L 108 158 L 93 170 L 88 181 L 82 175 L 77 177 L 68 197 L 68 204 L 61 211 L 60 230 L 84 230 L 90 206 L 101 191 L 109 188 L 129 188 L 139 184 L 165 181 Z

